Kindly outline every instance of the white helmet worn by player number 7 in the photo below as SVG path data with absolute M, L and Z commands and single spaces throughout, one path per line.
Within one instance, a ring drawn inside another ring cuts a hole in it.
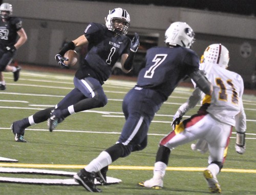
M 165 43 L 168 45 L 190 48 L 195 41 L 194 37 L 193 29 L 186 22 L 174 22 L 165 31 Z

